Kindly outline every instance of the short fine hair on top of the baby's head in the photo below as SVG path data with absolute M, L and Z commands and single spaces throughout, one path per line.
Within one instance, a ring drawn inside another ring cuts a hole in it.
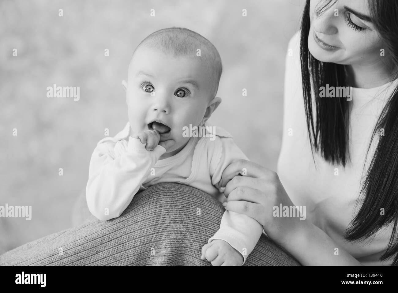
M 142 46 L 156 47 L 166 54 L 172 54 L 173 57 L 196 57 L 197 49 L 200 49 L 199 58 L 212 70 L 214 96 L 217 94 L 222 73 L 221 57 L 216 47 L 199 33 L 184 27 L 160 29 L 143 39 L 134 52 Z

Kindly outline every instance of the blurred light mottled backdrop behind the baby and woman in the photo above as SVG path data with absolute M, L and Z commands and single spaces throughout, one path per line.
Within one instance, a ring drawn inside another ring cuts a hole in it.
M 0 218 L 0 254 L 71 227 L 96 143 L 105 128 L 113 136 L 127 123 L 121 80 L 131 54 L 161 28 L 187 27 L 217 47 L 223 102 L 210 121 L 250 160 L 276 170 L 285 55 L 304 2 L 1 0 L 0 205 L 31 205 L 32 219 Z M 53 84 L 80 86 L 80 100 L 47 98 Z

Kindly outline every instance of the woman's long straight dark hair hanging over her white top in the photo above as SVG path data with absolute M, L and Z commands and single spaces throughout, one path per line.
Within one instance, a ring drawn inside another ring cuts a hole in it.
M 332 5 L 336 3 L 334 0 Z M 332 1 L 317 10 L 322 13 Z M 375 27 L 386 43 L 386 55 L 398 66 L 398 2 L 390 0 L 369 0 L 371 16 Z M 301 23 L 300 59 L 304 109 L 312 152 L 320 152 L 323 158 L 345 167 L 349 160 L 348 123 L 349 109 L 346 98 L 312 99 L 321 86 L 347 86 L 345 66 L 325 63 L 315 59 L 308 51 L 310 31 L 310 0 L 306 1 Z M 315 113 L 313 107 L 315 106 Z M 314 117 L 315 116 L 315 117 Z M 314 119 L 315 118 L 315 119 Z M 378 136 L 379 129 L 384 136 Z M 382 227 L 392 225 L 392 234 L 386 252 L 380 260 L 394 257 L 398 265 L 398 88 L 390 96 L 382 110 L 369 142 L 367 156 L 373 139 L 378 139 L 375 153 L 361 188 L 363 203 L 350 227 L 345 231 L 349 241 L 365 240 Z M 384 209 L 384 215 L 380 210 Z

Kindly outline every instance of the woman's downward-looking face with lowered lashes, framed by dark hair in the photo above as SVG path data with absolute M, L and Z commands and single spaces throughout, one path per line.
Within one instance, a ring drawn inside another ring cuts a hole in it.
M 366 66 L 380 62 L 382 39 L 372 23 L 368 1 L 338 0 L 317 16 L 317 8 L 327 3 L 310 1 L 308 49 L 312 56 L 337 64 Z

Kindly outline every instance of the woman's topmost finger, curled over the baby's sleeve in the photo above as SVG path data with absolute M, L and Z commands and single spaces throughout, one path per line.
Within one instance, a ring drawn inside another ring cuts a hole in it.
M 229 164 L 225 168 L 224 172 L 222 172 L 221 186 L 225 187 L 226 184 L 236 175 L 254 178 L 267 178 L 269 176 L 274 176 L 275 172 L 248 160 L 236 160 L 235 162 Z

